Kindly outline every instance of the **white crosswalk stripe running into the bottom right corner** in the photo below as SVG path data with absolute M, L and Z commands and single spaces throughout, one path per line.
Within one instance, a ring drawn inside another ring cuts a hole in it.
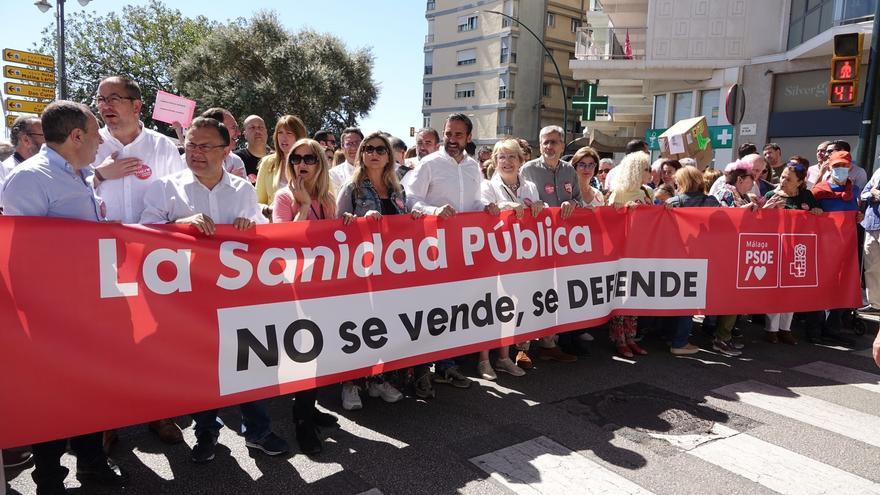
M 688 451 L 783 495 L 880 494 L 880 485 L 741 433 Z

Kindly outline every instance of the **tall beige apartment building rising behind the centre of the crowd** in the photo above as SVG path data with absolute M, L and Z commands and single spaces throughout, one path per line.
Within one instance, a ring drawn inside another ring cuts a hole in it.
M 576 90 L 568 61 L 574 57 L 577 31 L 590 4 L 591 0 L 429 0 L 424 126 L 439 129 L 450 113 L 465 113 L 474 123 L 476 144 L 493 144 L 506 136 L 537 142 L 541 127 L 561 126 Z M 568 121 L 571 139 L 579 135 L 579 119 L 568 111 Z

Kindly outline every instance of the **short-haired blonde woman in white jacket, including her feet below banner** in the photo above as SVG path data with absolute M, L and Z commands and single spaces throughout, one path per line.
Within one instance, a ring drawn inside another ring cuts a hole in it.
M 532 216 L 538 216 L 544 208 L 544 202 L 538 196 L 538 188 L 519 175 L 519 169 L 525 160 L 522 148 L 514 139 L 505 139 L 495 143 L 492 150 L 492 163 L 495 164 L 495 173 L 492 178 L 483 181 L 481 195 L 484 205 L 497 205 L 501 210 L 513 210 L 517 218 L 522 218 L 525 210 L 531 211 Z M 525 374 L 520 366 L 531 367 L 531 360 L 525 351 L 528 350 L 528 342 L 518 344 L 516 361 L 510 359 L 510 350 L 507 346 L 498 348 L 499 359 L 495 361 L 495 369 L 509 373 L 513 376 Z M 477 371 L 484 380 L 495 380 L 498 376 L 489 363 L 489 351 L 480 351 L 480 359 Z

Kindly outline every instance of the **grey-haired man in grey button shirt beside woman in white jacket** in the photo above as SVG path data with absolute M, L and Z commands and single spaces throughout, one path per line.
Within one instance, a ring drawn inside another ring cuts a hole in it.
M 538 187 L 538 196 L 544 204 L 561 208 L 562 218 L 568 218 L 581 201 L 581 189 L 578 187 L 577 171 L 570 163 L 560 159 L 565 148 L 562 136 L 563 131 L 559 126 L 541 129 L 538 133 L 541 156 L 526 162 L 520 175 Z M 563 352 L 556 345 L 555 335 L 541 339 L 539 357 L 562 363 L 577 361 L 576 356 Z

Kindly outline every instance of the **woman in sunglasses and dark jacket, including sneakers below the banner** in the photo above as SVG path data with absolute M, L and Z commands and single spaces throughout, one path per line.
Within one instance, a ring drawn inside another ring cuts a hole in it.
M 355 158 L 355 169 L 351 180 L 339 193 L 336 210 L 339 218 L 346 224 L 357 217 L 380 220 L 383 215 L 403 215 L 406 210 L 406 195 L 397 179 L 395 160 L 391 141 L 384 135 L 374 132 L 361 141 Z M 412 218 L 421 217 L 413 211 Z M 419 397 L 433 396 L 428 366 L 415 368 L 416 391 Z M 385 402 L 397 402 L 403 398 L 394 385 L 388 383 L 382 374 L 367 378 L 367 393 L 370 397 L 381 397 Z M 360 387 L 352 381 L 342 384 L 342 407 L 351 411 L 361 409 Z

